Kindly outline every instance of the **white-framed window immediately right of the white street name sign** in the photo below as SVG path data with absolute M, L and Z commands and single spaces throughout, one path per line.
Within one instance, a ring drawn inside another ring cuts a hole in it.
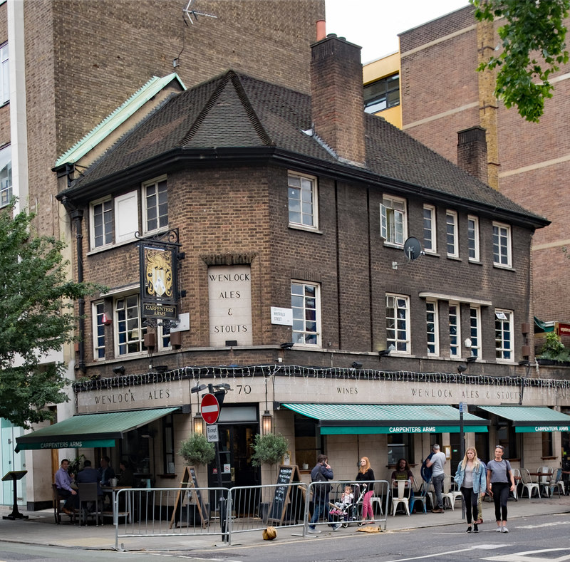
M 320 286 L 317 283 L 291 281 L 293 343 L 321 345 Z

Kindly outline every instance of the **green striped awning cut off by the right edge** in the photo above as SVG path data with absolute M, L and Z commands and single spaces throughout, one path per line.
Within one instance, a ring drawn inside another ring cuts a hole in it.
M 505 420 L 511 420 L 515 433 L 570 431 L 570 416 L 544 406 L 480 406 Z

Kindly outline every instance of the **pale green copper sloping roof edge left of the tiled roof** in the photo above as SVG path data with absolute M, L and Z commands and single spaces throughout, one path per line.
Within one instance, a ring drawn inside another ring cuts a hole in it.
M 186 90 L 186 86 L 180 80 L 180 76 L 173 72 L 168 76 L 159 78 L 152 76 L 145 85 L 137 90 L 122 105 L 110 113 L 103 121 L 90 130 L 81 140 L 76 142 L 69 150 L 63 153 L 56 161 L 56 167 L 68 162 L 77 162 L 79 158 L 85 156 L 89 150 L 97 146 L 105 137 L 108 137 L 119 125 L 125 123 L 133 113 L 142 107 L 148 100 L 154 97 L 162 88 L 172 80 L 178 80 L 178 83 Z

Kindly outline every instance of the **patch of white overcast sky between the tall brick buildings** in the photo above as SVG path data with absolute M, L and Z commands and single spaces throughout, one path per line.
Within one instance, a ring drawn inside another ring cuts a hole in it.
M 363 63 L 398 51 L 398 33 L 469 4 L 468 0 L 325 0 L 326 33 L 362 47 Z

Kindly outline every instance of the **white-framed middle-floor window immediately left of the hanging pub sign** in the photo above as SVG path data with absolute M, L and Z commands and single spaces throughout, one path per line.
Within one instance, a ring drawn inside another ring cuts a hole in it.
M 115 298 L 115 355 L 141 353 L 145 333 L 138 294 Z

